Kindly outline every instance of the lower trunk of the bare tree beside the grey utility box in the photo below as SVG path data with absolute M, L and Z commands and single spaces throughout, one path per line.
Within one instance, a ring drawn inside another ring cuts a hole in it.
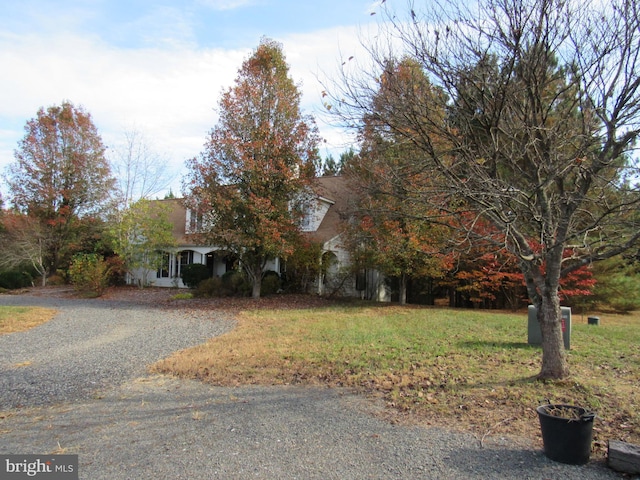
M 542 369 L 540 379 L 561 379 L 569 376 L 569 365 L 562 337 L 562 314 L 557 294 L 543 296 L 538 308 L 542 334 Z

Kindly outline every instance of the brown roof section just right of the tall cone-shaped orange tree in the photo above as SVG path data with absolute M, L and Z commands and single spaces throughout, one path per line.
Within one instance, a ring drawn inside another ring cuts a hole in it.
M 308 233 L 313 240 L 325 243 L 342 232 L 341 219 L 349 206 L 352 190 L 343 176 L 318 177 L 314 180 L 313 190 L 321 199 L 332 202 L 318 229 Z

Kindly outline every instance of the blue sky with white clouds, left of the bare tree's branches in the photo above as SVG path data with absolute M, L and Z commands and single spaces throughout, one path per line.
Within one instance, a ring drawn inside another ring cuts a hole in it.
M 337 157 L 349 137 L 322 115 L 320 80 L 361 51 L 373 0 L 0 0 L 1 174 L 38 109 L 82 106 L 108 148 L 136 131 L 179 194 L 185 160 L 217 123 L 223 90 L 262 37 L 280 42 L 301 107 Z

